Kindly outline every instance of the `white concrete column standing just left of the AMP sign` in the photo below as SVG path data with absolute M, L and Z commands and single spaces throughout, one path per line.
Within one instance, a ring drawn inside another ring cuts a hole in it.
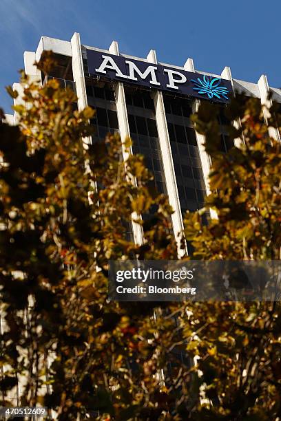
M 83 60 L 82 60 L 82 52 L 81 52 L 81 41 L 80 41 L 80 34 L 78 32 L 74 32 L 72 39 L 71 39 L 71 49 L 72 49 L 72 73 L 73 73 L 73 80 L 76 85 L 76 94 L 77 94 L 77 105 L 79 111 L 82 111 L 87 107 L 87 92 L 86 92 L 86 85 L 85 85 L 85 76 L 84 76 L 84 69 L 83 69 Z M 91 137 L 84 138 L 83 141 L 85 144 L 91 144 L 92 139 Z

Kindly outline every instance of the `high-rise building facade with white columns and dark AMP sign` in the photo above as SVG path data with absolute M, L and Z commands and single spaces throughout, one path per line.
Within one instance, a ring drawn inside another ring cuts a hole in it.
M 52 50 L 58 63 L 49 75 L 34 66 L 44 50 Z M 256 84 L 232 78 L 229 67 L 220 75 L 200 72 L 192 58 L 187 58 L 183 67 L 167 65 L 158 62 L 154 50 L 146 58 L 128 56 L 119 52 L 116 41 L 108 50 L 101 50 L 81 44 L 78 33 L 70 41 L 42 36 L 37 51 L 25 52 L 23 58 L 30 78 L 42 84 L 57 78 L 62 86 L 76 90 L 79 109 L 87 105 L 96 109 L 91 120 L 95 136 L 88 142 L 104 138 L 109 131 L 118 131 L 122 139 L 132 138 L 131 153 L 145 155 L 158 191 L 167 194 L 174 208 L 171 222 L 176 237 L 183 230 L 185 210 L 200 208 L 209 191 L 209 156 L 202 146 L 204 138 L 196 133 L 189 118 L 200 100 L 219 103 L 223 109 L 231 91 L 244 91 L 262 103 L 267 102 L 269 93 L 281 102 L 281 89 L 269 87 L 267 76 L 260 76 Z M 19 92 L 23 89 L 18 83 L 13 87 Z M 20 96 L 15 102 L 21 102 Z M 17 122 L 17 114 L 7 118 Z M 229 122 L 223 113 L 219 122 L 221 148 L 227 151 L 231 147 Z M 278 131 L 272 130 L 271 136 L 280 140 Z M 136 224 L 132 235 L 136 243 L 142 242 L 141 228 Z M 178 250 L 180 253 L 180 247 Z

